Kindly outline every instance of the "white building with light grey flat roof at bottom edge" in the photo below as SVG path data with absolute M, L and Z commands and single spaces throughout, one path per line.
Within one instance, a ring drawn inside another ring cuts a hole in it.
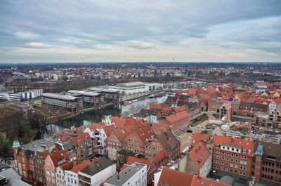
M 147 166 L 138 162 L 126 167 L 106 182 L 105 186 L 145 186 L 147 185 Z

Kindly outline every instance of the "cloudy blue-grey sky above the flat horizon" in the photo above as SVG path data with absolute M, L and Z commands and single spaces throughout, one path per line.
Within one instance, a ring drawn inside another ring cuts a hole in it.
M 0 2 L 0 62 L 281 62 L 280 0 Z

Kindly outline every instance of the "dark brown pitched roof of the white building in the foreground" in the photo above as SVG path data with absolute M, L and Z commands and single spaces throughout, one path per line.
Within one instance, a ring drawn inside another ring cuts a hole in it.
M 110 161 L 110 159 L 106 157 L 101 157 L 100 159 L 91 162 L 91 164 L 89 164 L 79 172 L 93 176 L 96 175 L 96 173 L 99 173 L 100 171 L 103 171 L 105 168 L 112 166 L 114 164 L 115 163 Z

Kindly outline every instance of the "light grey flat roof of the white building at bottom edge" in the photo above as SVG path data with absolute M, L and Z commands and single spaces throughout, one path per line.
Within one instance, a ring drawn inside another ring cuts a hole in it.
M 138 171 L 140 171 L 140 169 L 144 166 L 146 165 L 140 164 L 138 162 L 131 164 L 119 173 L 119 179 L 117 178 L 117 175 L 115 175 L 109 180 L 107 180 L 105 183 L 116 186 L 124 185 L 127 180 L 129 180 L 133 175 L 138 173 Z

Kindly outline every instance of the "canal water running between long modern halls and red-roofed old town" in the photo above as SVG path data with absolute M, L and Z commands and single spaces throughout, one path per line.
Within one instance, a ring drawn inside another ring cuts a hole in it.
M 141 108 L 148 108 L 151 103 L 161 103 L 166 100 L 168 95 L 162 95 L 158 98 L 139 98 L 138 101 L 133 102 L 131 105 L 122 105 L 122 107 L 114 107 L 108 106 L 104 109 L 100 110 L 91 110 L 89 112 L 81 113 L 75 117 L 71 117 L 68 119 L 63 119 L 60 121 L 56 121 L 53 124 L 48 124 L 47 126 L 41 127 L 39 132 L 37 133 L 34 140 L 40 139 L 40 138 L 52 138 L 55 133 L 59 133 L 60 131 L 63 131 L 65 128 L 71 128 L 79 127 L 79 126 L 89 126 L 93 124 L 97 124 L 106 115 L 111 116 L 117 116 L 117 117 L 123 117 L 128 116 L 129 114 L 133 114 L 138 112 Z

